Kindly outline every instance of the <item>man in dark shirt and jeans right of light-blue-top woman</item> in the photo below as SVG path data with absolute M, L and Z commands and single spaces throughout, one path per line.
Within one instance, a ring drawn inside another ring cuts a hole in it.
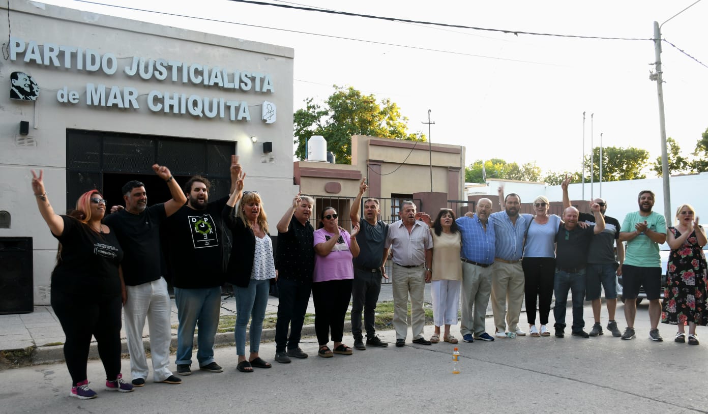
M 593 202 L 590 205 L 595 216 L 595 225 L 585 229 L 578 227 L 578 209 L 568 207 L 563 213 L 564 224 L 556 233 L 556 275 L 554 291 L 556 305 L 553 316 L 556 319 L 556 338 L 564 337 L 566 328 L 566 303 L 568 291 L 571 291 L 573 301 L 573 336 L 588 338 L 590 335 L 583 330 L 583 297 L 585 297 L 585 273 L 588 263 L 588 248 L 595 234 L 605 229 L 605 219 L 600 214 L 600 205 Z

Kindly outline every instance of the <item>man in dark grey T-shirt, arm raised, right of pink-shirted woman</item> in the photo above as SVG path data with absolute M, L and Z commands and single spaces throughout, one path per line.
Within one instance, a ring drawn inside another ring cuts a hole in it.
M 366 178 L 362 178 L 359 194 L 352 204 L 349 218 L 352 224 L 359 223 L 359 234 L 356 241 L 359 244 L 359 255 L 354 258 L 354 282 L 352 284 L 352 335 L 354 347 L 365 350 L 366 345 L 387 347 L 389 344 L 376 335 L 374 323 L 376 302 L 381 292 L 381 278 L 388 279 L 384 264 L 389 256 L 389 249 L 384 248 L 389 225 L 379 220 L 381 209 L 379 200 L 369 198 L 364 202 L 364 217 L 359 216 L 361 197 L 368 189 Z M 366 329 L 366 345 L 361 331 L 361 313 L 364 311 L 364 327 Z

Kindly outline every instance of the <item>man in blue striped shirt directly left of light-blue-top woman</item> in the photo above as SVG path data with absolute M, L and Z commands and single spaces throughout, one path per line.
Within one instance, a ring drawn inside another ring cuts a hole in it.
M 500 199 L 503 194 L 504 188 L 500 187 Z M 511 193 L 504 198 L 504 211 L 489 216 L 489 221 L 494 224 L 496 236 L 495 263 L 491 279 L 491 307 L 494 313 L 496 338 L 506 338 L 507 327 L 510 333 L 526 335 L 519 328 L 519 315 L 524 300 L 524 271 L 521 268 L 521 256 L 528 222 L 519 214 L 520 206 L 521 197 Z M 509 298 L 508 311 L 507 297 Z

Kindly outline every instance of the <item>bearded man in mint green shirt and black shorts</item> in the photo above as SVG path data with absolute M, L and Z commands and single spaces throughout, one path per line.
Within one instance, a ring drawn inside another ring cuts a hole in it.
M 622 339 L 636 338 L 634 317 L 636 316 L 636 297 L 640 287 L 644 286 L 646 299 L 649 300 L 649 339 L 661 342 L 657 328 L 661 318 L 661 258 L 659 244 L 666 241 L 666 219 L 661 214 L 651 211 L 654 206 L 654 193 L 649 190 L 639 192 L 639 211 L 627 214 L 619 230 L 619 240 L 627 242 L 622 264 L 622 296 L 624 299 L 624 319 L 627 329 Z

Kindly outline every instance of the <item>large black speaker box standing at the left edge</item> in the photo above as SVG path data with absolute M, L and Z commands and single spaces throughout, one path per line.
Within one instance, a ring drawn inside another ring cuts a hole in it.
M 31 237 L 0 237 L 0 314 L 34 311 Z

